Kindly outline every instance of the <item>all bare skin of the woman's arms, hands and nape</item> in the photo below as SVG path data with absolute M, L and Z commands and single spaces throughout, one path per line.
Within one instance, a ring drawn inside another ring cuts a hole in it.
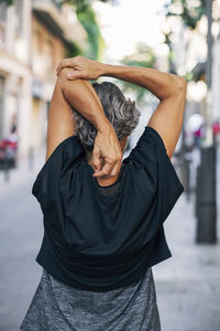
M 119 175 L 128 137 L 124 141 L 118 140 L 89 82 L 100 76 L 111 76 L 136 84 L 158 97 L 160 104 L 147 125 L 158 131 L 169 158 L 173 156 L 183 126 L 187 84 L 183 77 L 157 70 L 109 65 L 84 56 L 65 58 L 59 63 L 50 105 L 46 159 L 58 143 L 75 134 L 72 116 L 74 107 L 98 130 L 92 156 L 88 161 L 94 170 L 99 170 L 94 175 L 100 185 L 109 185 L 116 182 Z

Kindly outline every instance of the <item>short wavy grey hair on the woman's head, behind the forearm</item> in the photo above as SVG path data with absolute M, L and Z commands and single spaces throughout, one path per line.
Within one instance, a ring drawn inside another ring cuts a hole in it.
M 135 102 L 125 98 L 120 88 L 110 82 L 92 83 L 105 114 L 112 124 L 117 137 L 122 140 L 130 136 L 140 120 L 141 111 L 136 108 Z M 94 142 L 97 135 L 97 128 L 80 115 L 76 109 L 73 109 L 76 121 L 76 136 L 87 151 L 92 151 Z

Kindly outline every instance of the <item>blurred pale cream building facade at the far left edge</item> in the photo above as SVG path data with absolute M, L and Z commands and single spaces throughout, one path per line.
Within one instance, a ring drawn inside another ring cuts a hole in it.
M 19 152 L 28 150 L 32 109 L 31 1 L 0 4 L 0 139 L 13 125 Z

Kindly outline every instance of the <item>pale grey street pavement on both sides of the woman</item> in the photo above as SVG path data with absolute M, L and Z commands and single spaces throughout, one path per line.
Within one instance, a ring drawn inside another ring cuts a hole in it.
M 0 331 L 19 330 L 41 279 L 35 257 L 42 212 L 31 188 L 44 159 L 42 150 L 32 169 L 28 160 L 20 161 L 10 181 L 0 171 Z M 219 196 L 218 178 L 218 210 Z M 164 224 L 173 256 L 153 267 L 162 331 L 220 331 L 220 211 L 218 243 L 198 245 L 194 204 L 194 194 L 189 202 L 185 194 L 177 201 Z

